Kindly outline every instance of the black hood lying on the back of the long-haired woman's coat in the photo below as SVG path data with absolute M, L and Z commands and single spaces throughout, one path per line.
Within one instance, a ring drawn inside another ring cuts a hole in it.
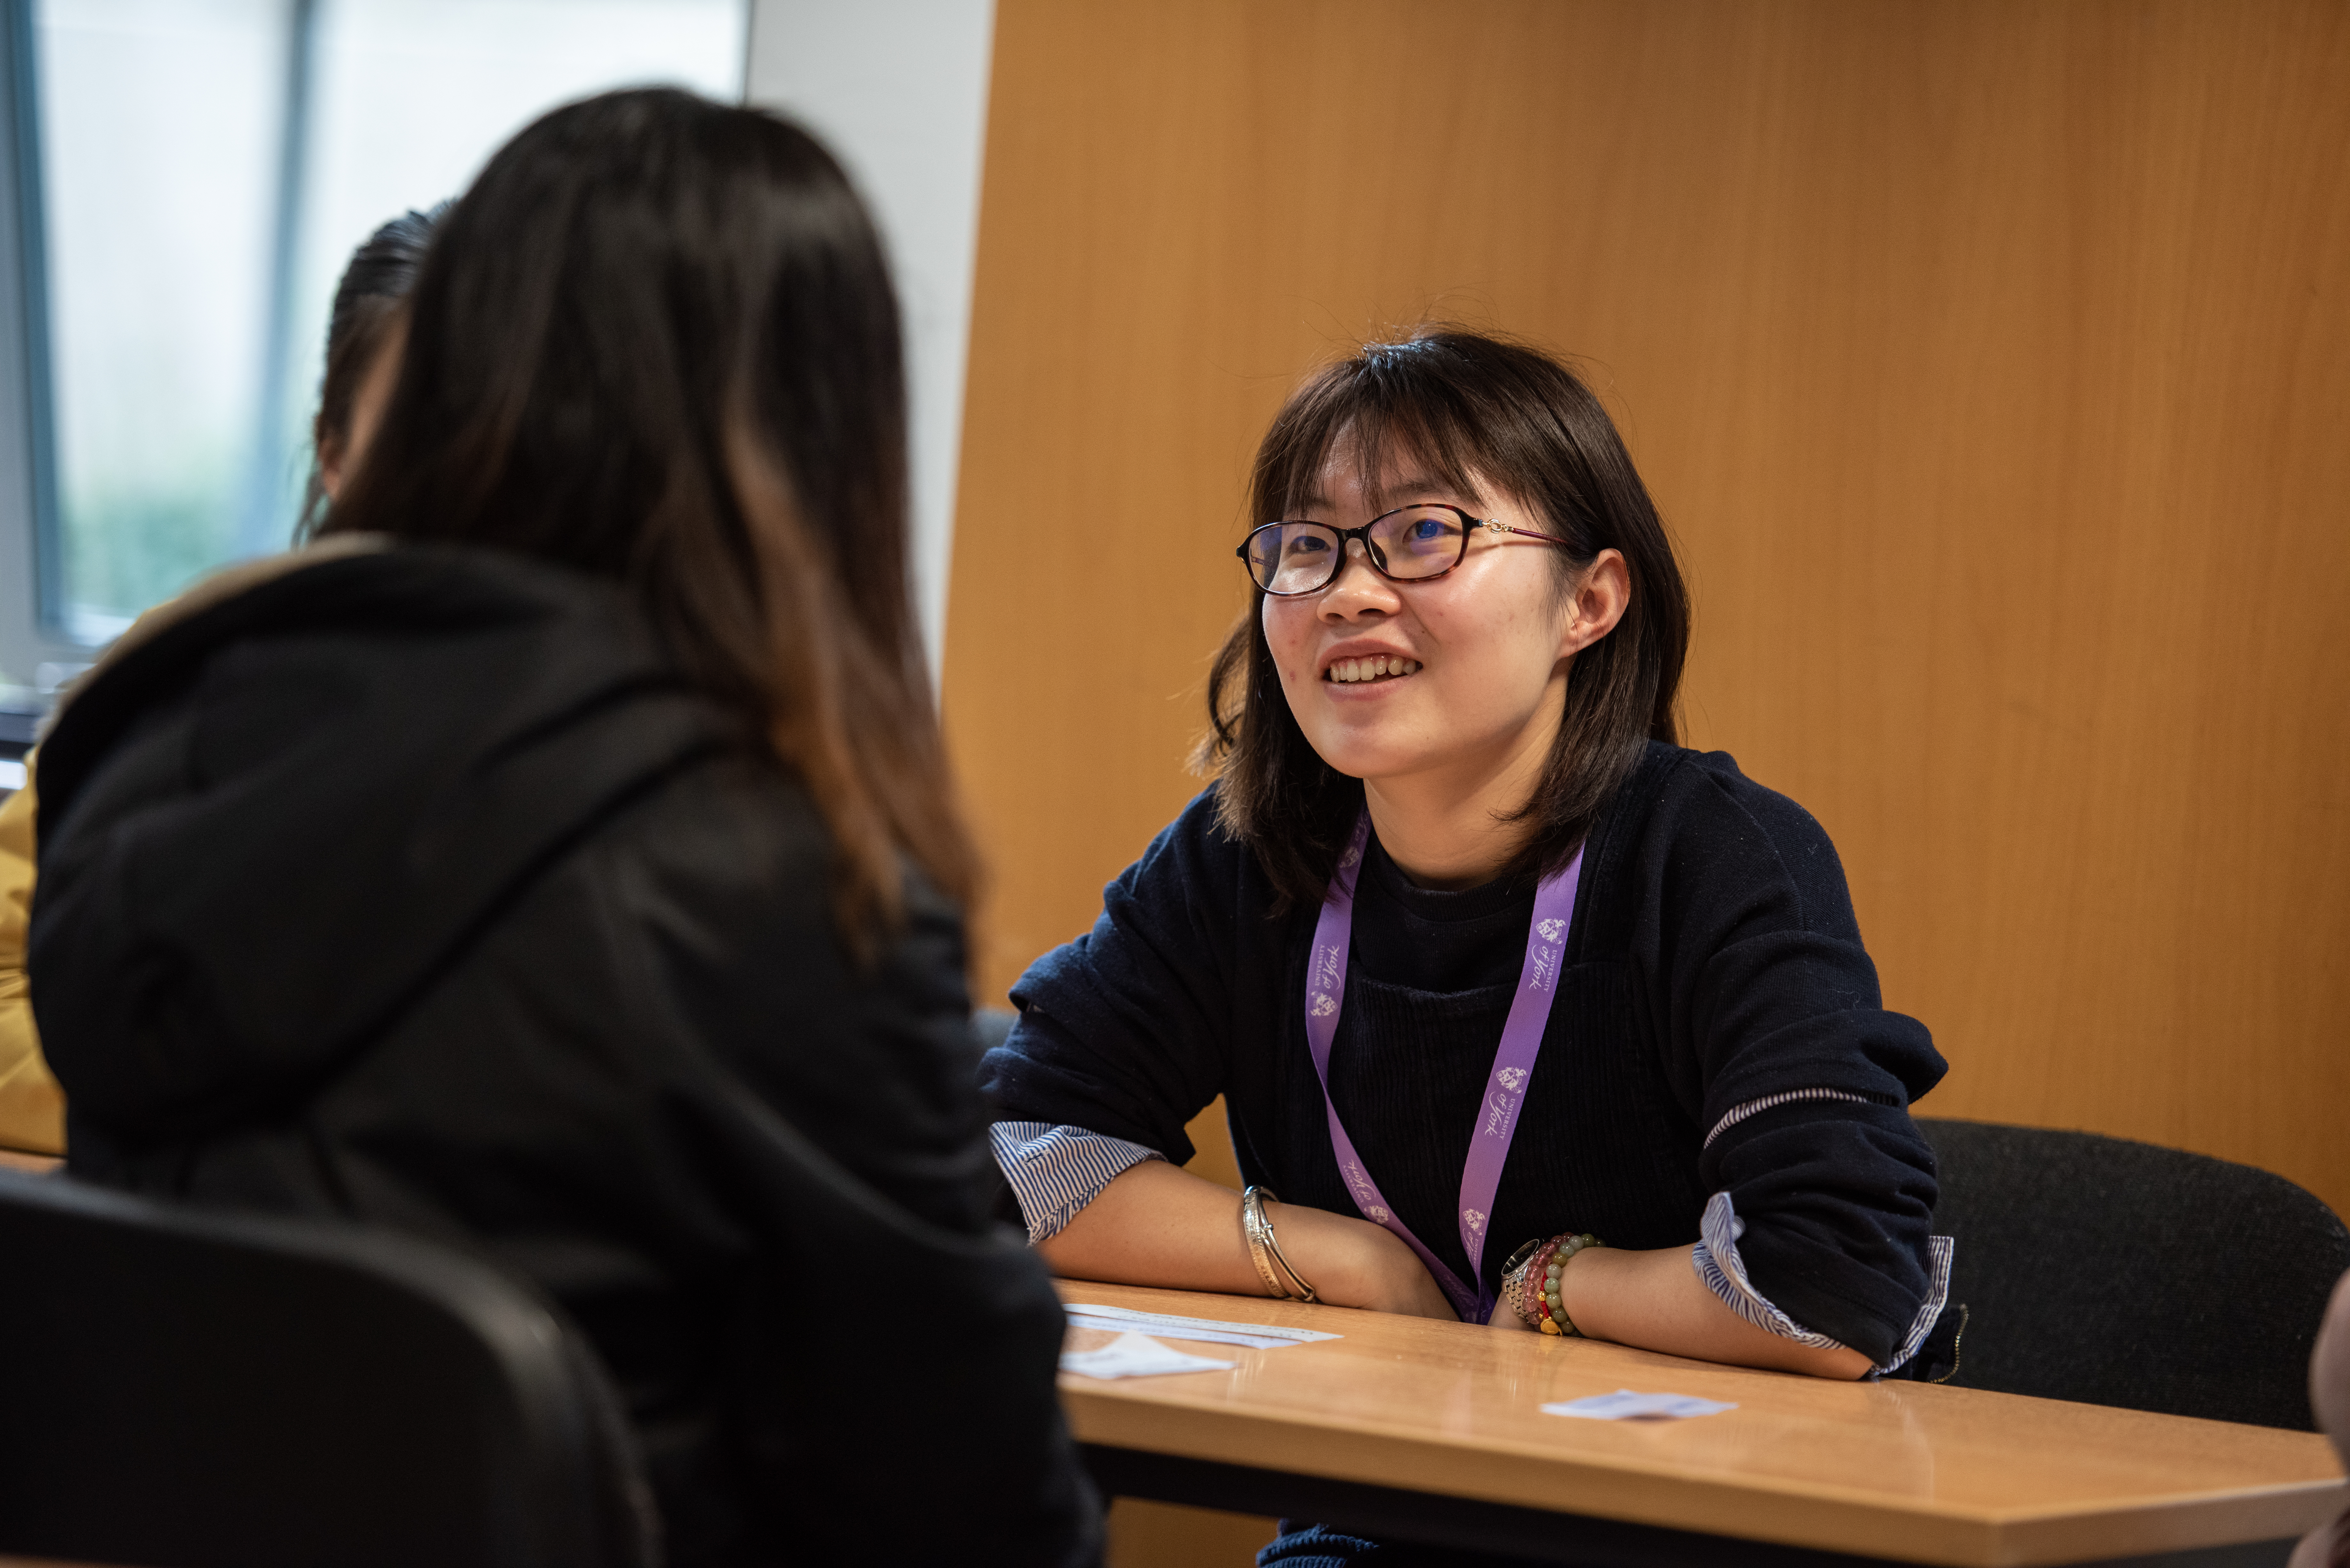
M 40 748 L 28 973 L 73 1121 L 127 1143 L 298 1103 L 533 875 L 745 745 L 620 590 L 496 552 L 294 555 L 125 642 Z

